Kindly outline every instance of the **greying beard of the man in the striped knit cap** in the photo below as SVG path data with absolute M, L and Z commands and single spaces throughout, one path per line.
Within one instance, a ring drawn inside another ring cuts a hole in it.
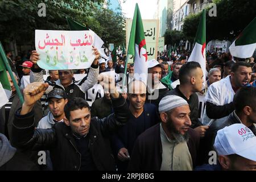
M 168 131 L 171 133 L 172 137 L 174 137 L 176 143 L 183 143 L 188 141 L 188 133 L 185 133 L 184 135 L 180 134 L 179 131 L 175 129 L 174 123 L 171 121 L 170 118 L 168 118 L 166 125 Z

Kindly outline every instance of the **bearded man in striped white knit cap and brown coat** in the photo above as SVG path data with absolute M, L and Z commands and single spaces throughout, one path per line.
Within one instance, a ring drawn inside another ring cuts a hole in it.
M 162 120 L 142 133 L 135 142 L 130 170 L 180 171 L 196 165 L 199 135 L 191 129 L 188 102 L 175 95 L 159 102 Z

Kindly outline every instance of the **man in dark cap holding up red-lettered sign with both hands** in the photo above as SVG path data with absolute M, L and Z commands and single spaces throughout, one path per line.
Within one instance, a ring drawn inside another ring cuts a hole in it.
M 59 80 L 57 80 L 55 84 L 49 86 L 46 93 L 49 93 L 54 86 L 64 89 L 67 93 L 68 100 L 75 97 L 85 98 L 85 92 L 92 88 L 94 84 L 97 84 L 99 73 L 98 59 L 100 59 L 100 53 L 97 48 L 93 48 L 93 51 L 96 57 L 90 66 L 87 77 L 83 78 L 80 82 L 76 82 L 72 70 L 59 70 Z M 32 51 L 30 60 L 34 63 L 34 66 L 31 69 L 31 83 L 34 81 L 43 82 L 43 71 L 37 65 L 39 59 L 39 54 L 36 51 Z

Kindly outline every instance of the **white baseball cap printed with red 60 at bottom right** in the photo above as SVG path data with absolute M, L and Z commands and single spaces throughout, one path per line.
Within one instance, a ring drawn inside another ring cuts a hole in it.
M 213 146 L 218 155 L 237 154 L 256 161 L 256 137 L 243 124 L 234 124 L 218 130 Z

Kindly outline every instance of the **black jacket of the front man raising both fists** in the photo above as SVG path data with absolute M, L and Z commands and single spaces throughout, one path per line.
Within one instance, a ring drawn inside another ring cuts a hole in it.
M 114 170 L 115 163 L 109 144 L 109 135 L 125 125 L 129 109 L 123 97 L 113 99 L 114 114 L 107 118 L 94 117 L 90 121 L 89 151 L 98 170 Z M 79 170 L 81 154 L 77 150 L 72 130 L 65 123 L 52 129 L 34 129 L 33 113 L 15 115 L 13 142 L 15 146 L 32 150 L 49 150 L 54 170 Z

